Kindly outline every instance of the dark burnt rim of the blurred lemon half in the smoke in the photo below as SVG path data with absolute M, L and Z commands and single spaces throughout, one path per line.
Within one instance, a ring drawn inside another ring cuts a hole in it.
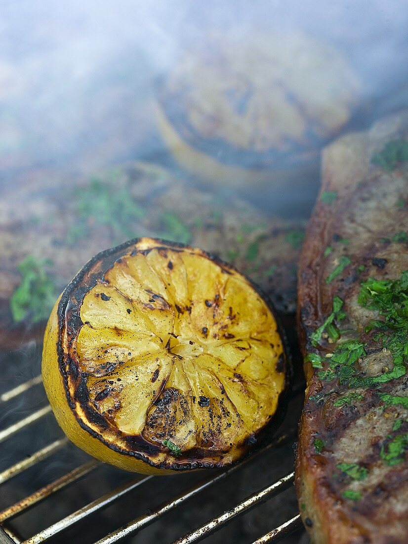
M 287 151 L 274 148 L 267 151 L 255 151 L 236 147 L 222 138 L 204 138 L 202 134 L 194 129 L 187 118 L 183 90 L 169 92 L 166 81 L 167 78 L 162 76 L 156 80 L 155 86 L 157 103 L 167 121 L 186 145 L 207 154 L 225 166 L 238 166 L 244 169 L 261 171 L 291 167 L 299 168 L 313 163 L 319 156 L 321 148 L 332 139 L 332 136 L 326 138 L 317 136 L 313 131 L 313 127 L 318 126 L 319 122 L 313 119 L 309 119 L 310 126 L 305 131 L 307 145 L 300 145 L 295 140 L 286 138 L 285 143 L 290 145 L 290 149 Z M 338 131 L 341 128 L 343 127 L 339 127 Z

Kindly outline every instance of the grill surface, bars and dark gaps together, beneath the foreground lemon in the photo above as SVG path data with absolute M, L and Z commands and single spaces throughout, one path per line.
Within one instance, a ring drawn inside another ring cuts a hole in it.
M 32 410 L 28 415 L 22 417 L 21 419 L 17 419 L 15 423 L 4 426 L 3 430 L 0 431 L 0 442 L 5 442 L 5 449 L 4 444 L 2 444 L 3 451 L 10 452 L 8 449 L 8 442 L 12 441 L 13 439 L 17 440 L 17 443 L 20 444 L 21 449 L 21 444 L 24 446 L 24 441 L 32 440 L 33 435 L 32 432 L 30 432 L 30 429 L 32 429 L 35 424 L 40 425 L 40 429 L 46 428 L 47 420 L 51 420 L 53 417 L 51 416 L 51 407 L 49 407 L 48 404 L 45 404 L 46 397 L 42 391 L 40 376 L 36 376 L 35 378 L 30 379 L 21 385 L 11 388 L 9 391 L 6 391 L 1 395 L 0 406 L 4 408 L 3 413 L 10 414 L 13 412 L 13 405 L 20 406 L 20 404 L 18 404 L 18 400 L 23 400 L 24 396 L 34 393 L 35 390 L 38 390 L 39 388 L 41 388 L 41 391 L 36 391 L 36 394 L 40 395 L 39 398 L 41 399 L 41 406 L 37 407 L 35 410 Z M 259 461 L 264 459 L 268 454 L 272 455 L 271 459 L 273 462 L 275 450 L 278 451 L 285 446 L 290 449 L 291 444 L 293 444 L 293 441 L 296 438 L 297 416 L 295 414 L 293 417 L 293 414 L 296 412 L 296 410 L 298 410 L 298 408 L 293 409 L 292 406 L 293 403 L 297 403 L 299 406 L 301 405 L 299 401 L 302 397 L 300 394 L 302 391 L 303 384 L 302 382 L 298 382 L 298 384 L 293 387 L 292 398 L 288 407 L 288 412 L 292 413 L 293 421 L 288 423 L 285 420 L 286 424 L 284 424 L 284 426 L 280 429 L 275 438 L 257 453 L 233 467 L 224 469 L 223 471 L 201 472 L 198 479 L 195 477 L 196 475 L 194 475 L 192 484 L 191 480 L 190 482 L 187 480 L 187 483 L 190 485 L 185 486 L 184 489 L 177 493 L 172 493 L 170 498 L 164 500 L 164 502 L 160 502 L 159 505 L 150 507 L 148 510 L 146 510 L 146 508 L 150 506 L 150 504 L 143 504 L 142 506 L 145 509 L 144 514 L 139 515 L 115 530 L 111 530 L 109 534 L 106 534 L 97 540 L 97 543 L 108 544 L 112 542 L 128 542 L 129 538 L 131 542 L 143 542 L 144 540 L 139 540 L 139 538 L 133 540 L 131 539 L 131 536 L 135 535 L 141 529 L 146 528 L 150 524 L 158 522 L 162 516 L 173 512 L 173 510 L 174 515 L 172 518 L 170 518 L 170 520 L 176 520 L 177 517 L 174 516 L 178 516 L 178 512 L 180 511 L 178 507 L 186 503 L 184 509 L 185 511 L 188 511 L 194 499 L 196 501 L 200 500 L 200 496 L 208 490 L 217 492 L 216 490 L 218 489 L 219 484 L 227 478 L 229 485 L 232 489 L 234 489 L 234 487 L 240 485 L 237 483 L 237 478 L 239 478 L 239 475 L 242 475 L 245 471 L 248 471 L 249 467 L 252 466 L 257 460 Z M 39 434 L 41 434 L 41 431 Z M 47 433 L 45 433 L 45 435 L 47 435 Z M 28 481 L 32 483 L 33 479 L 34 481 L 36 481 L 36 479 L 42 481 L 44 477 L 48 477 L 49 479 L 47 471 L 49 470 L 49 465 L 52 465 L 53 456 L 60 452 L 61 455 L 65 455 L 67 458 L 70 458 L 72 455 L 70 453 L 71 449 L 74 448 L 56 427 L 53 428 L 51 437 L 53 437 L 54 440 L 51 440 L 41 448 L 36 449 L 34 453 L 30 454 L 26 458 L 17 460 L 13 465 L 5 468 L 0 473 L 0 484 L 4 485 L 8 480 L 16 477 L 17 475 L 22 475 L 23 477 L 22 473 L 28 471 L 28 469 L 32 469 L 30 473 L 36 471 L 36 476 L 32 476 L 30 480 L 23 478 L 23 488 L 24 483 L 28 483 Z M 7 458 L 10 459 L 11 455 L 8 454 Z M 111 467 L 108 468 L 112 472 L 113 469 Z M 54 478 L 46 485 L 40 486 L 35 491 L 26 494 L 23 496 L 23 498 L 17 500 L 17 502 L 14 502 L 14 504 L 11 504 L 5 508 L 2 505 L 2 508 L 4 509 L 0 511 L 0 542 L 7 542 L 9 544 L 10 542 L 39 544 L 40 542 L 45 542 L 49 539 L 52 539 L 52 542 L 65 542 L 62 536 L 64 534 L 63 531 L 72 528 L 77 530 L 77 534 L 74 537 L 75 542 L 95 542 L 95 540 L 92 540 L 92 537 L 91 539 L 89 538 L 90 534 L 92 535 L 92 529 L 91 533 L 89 533 L 89 531 L 84 531 L 84 524 L 87 527 L 92 527 L 93 523 L 98 523 L 98 520 L 95 522 L 95 515 L 98 513 L 102 514 L 102 511 L 107 509 L 109 506 L 120 502 L 121 499 L 125 499 L 127 502 L 133 500 L 136 489 L 140 488 L 139 491 L 141 493 L 141 497 L 145 497 L 146 489 L 155 489 L 157 486 L 160 487 L 160 484 L 164 480 L 167 480 L 167 478 L 141 475 L 135 478 L 134 475 L 132 476 L 115 469 L 116 475 L 120 473 L 121 478 L 123 478 L 123 475 L 126 475 L 130 479 L 119 486 L 114 486 L 110 491 L 102 493 L 96 499 L 88 502 L 84 506 L 81 506 L 77 510 L 72 511 L 71 514 L 60 518 L 56 522 L 48 524 L 47 518 L 43 517 L 40 520 L 41 529 L 38 530 L 36 534 L 26 534 L 27 527 L 24 523 L 24 517 L 22 517 L 22 521 L 20 521 L 20 516 L 26 514 L 26 512 L 28 512 L 30 509 L 34 509 L 35 506 L 39 505 L 41 502 L 45 502 L 45 505 L 52 509 L 58 502 L 59 495 L 57 495 L 57 492 L 64 490 L 68 486 L 71 486 L 72 495 L 75 496 L 76 485 L 84 485 L 84 483 L 87 485 L 87 478 L 89 478 L 92 473 L 101 471 L 102 469 L 106 469 L 106 465 L 104 465 L 104 463 L 86 456 L 85 462 L 79 463 L 78 466 L 67 472 L 65 471 L 58 478 Z M 281 496 L 281 493 L 283 493 L 285 490 L 291 489 L 293 492 L 293 478 L 293 472 L 288 472 L 282 473 L 277 481 L 271 482 L 263 480 L 263 483 L 267 483 L 263 489 L 249 494 L 243 498 L 243 500 L 238 502 L 238 504 L 236 498 L 234 497 L 235 501 L 232 508 L 223 511 L 214 518 L 211 518 L 210 521 L 204 522 L 201 526 L 192 530 L 190 533 L 179 537 L 178 540 L 174 540 L 174 544 L 189 544 L 192 542 L 201 541 L 218 531 L 218 529 L 221 529 L 229 522 L 235 520 L 238 516 L 244 515 L 249 510 L 259 507 L 262 503 L 265 503 L 267 500 L 272 499 L 273 497 L 278 495 Z M 174 482 L 175 480 L 172 481 Z M 92 486 L 92 483 L 90 486 Z M 27 485 L 27 487 L 30 486 Z M 7 499 L 10 500 L 8 496 Z M 223 505 L 224 503 L 220 503 L 219 501 L 217 502 L 216 507 L 218 508 L 218 511 L 220 508 L 222 508 L 222 506 L 220 507 L 220 504 Z M 292 504 L 294 504 L 293 500 Z M 300 522 L 300 516 L 293 508 L 292 516 L 290 518 L 282 520 L 278 527 L 275 528 L 273 528 L 271 524 L 271 530 L 267 534 L 261 536 L 258 540 L 254 541 L 253 544 L 278 542 L 287 535 L 290 535 L 291 533 L 294 533 L 294 531 L 300 529 L 301 526 L 302 523 Z M 242 540 L 242 542 L 247 541 L 248 540 L 245 539 Z M 294 541 L 295 540 L 291 540 L 291 542 Z M 170 540 L 167 540 L 167 542 L 170 542 Z

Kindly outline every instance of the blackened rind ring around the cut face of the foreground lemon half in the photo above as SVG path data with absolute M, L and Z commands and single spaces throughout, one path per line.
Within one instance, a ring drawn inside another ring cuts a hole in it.
M 89 292 L 90 289 L 92 289 L 92 287 L 96 285 L 97 281 L 101 279 L 101 277 L 103 277 L 104 272 L 114 265 L 117 259 L 120 259 L 121 257 L 123 257 L 125 253 L 127 252 L 127 250 L 132 245 L 136 245 L 142 240 L 143 238 L 133 238 L 131 240 L 128 240 L 127 242 L 124 242 L 123 244 L 116 246 L 115 248 L 110 248 L 110 249 L 99 252 L 97 255 L 95 255 L 95 257 L 92 257 L 92 259 L 90 259 L 90 261 L 88 261 L 84 265 L 84 267 L 79 271 L 79 273 L 64 289 L 64 292 L 62 292 L 61 299 L 59 301 L 58 309 L 57 309 L 57 315 L 58 315 L 57 355 L 58 355 L 58 369 L 62 376 L 62 382 L 64 385 L 64 391 L 67 398 L 68 406 L 70 406 L 70 409 L 72 410 L 72 413 L 74 417 L 76 418 L 80 427 L 86 432 L 88 432 L 90 436 L 101 441 L 105 446 L 108 446 L 110 449 L 114 450 L 115 452 L 118 452 L 122 455 L 132 456 L 136 459 L 146 462 L 148 465 L 152 467 L 159 468 L 159 469 L 170 469 L 173 471 L 191 471 L 192 469 L 198 469 L 198 468 L 222 468 L 227 465 L 228 466 L 235 465 L 237 462 L 242 461 L 242 459 L 246 458 L 248 455 L 250 455 L 257 449 L 259 449 L 263 444 L 267 442 L 268 438 L 272 438 L 274 432 L 278 429 L 280 424 L 283 422 L 283 419 L 286 415 L 287 400 L 289 397 L 288 393 L 290 392 L 290 388 L 291 388 L 292 361 L 290 357 L 290 351 L 288 350 L 288 346 L 287 346 L 286 335 L 285 335 L 283 327 L 280 324 L 280 320 L 272 304 L 272 301 L 269 299 L 268 295 L 265 292 L 263 292 L 261 287 L 256 285 L 256 283 L 254 283 L 247 276 L 245 276 L 240 271 L 238 271 L 233 265 L 225 261 L 222 261 L 222 259 L 218 258 L 215 255 L 211 255 L 210 253 L 206 251 L 199 250 L 200 254 L 202 254 L 204 257 L 218 264 L 226 274 L 231 274 L 231 271 L 235 271 L 238 274 L 241 274 L 241 276 L 243 276 L 248 281 L 250 286 L 252 286 L 253 289 L 265 301 L 266 305 L 268 306 L 269 310 L 272 312 L 272 315 L 275 319 L 275 322 L 277 325 L 277 331 L 279 333 L 279 336 L 283 345 L 283 353 L 279 357 L 277 364 L 280 364 L 281 366 L 283 366 L 283 369 L 280 372 L 283 372 L 285 375 L 285 382 L 284 382 L 285 385 L 283 390 L 278 395 L 277 410 L 275 411 L 271 419 L 261 429 L 259 429 L 258 431 L 250 435 L 249 439 L 247 439 L 244 443 L 237 444 L 242 449 L 242 453 L 238 459 L 232 462 L 200 461 L 199 460 L 200 458 L 203 459 L 204 457 L 208 456 L 208 452 L 200 448 L 192 448 L 190 450 L 187 450 L 187 452 L 181 453 L 181 455 L 178 456 L 177 460 L 174 460 L 174 462 L 169 463 L 168 460 L 165 460 L 160 463 L 155 463 L 152 458 L 154 458 L 155 455 L 162 453 L 163 448 L 161 448 L 160 446 L 155 446 L 154 444 L 148 442 L 141 435 L 129 436 L 119 429 L 115 430 L 115 434 L 118 436 L 121 436 L 124 439 L 124 442 L 129 444 L 129 450 L 123 449 L 121 447 L 116 446 L 115 444 L 112 444 L 111 442 L 106 441 L 103 437 L 102 432 L 104 429 L 108 428 L 108 423 L 103 418 L 103 416 L 92 407 L 90 403 L 89 392 L 86 387 L 87 373 L 81 372 L 81 374 L 83 375 L 83 377 L 81 378 L 75 361 L 70 357 L 68 353 L 65 354 L 64 350 L 62 349 L 62 343 L 61 343 L 62 331 L 65 331 L 65 335 L 68 337 L 68 339 L 70 339 L 70 341 L 72 341 L 72 339 L 78 335 L 80 327 L 84 324 L 79 316 L 79 311 L 80 311 L 80 307 L 83 302 L 84 296 Z M 145 249 L 145 250 L 135 249 L 134 255 L 136 255 L 137 253 L 142 253 L 142 254 L 144 253 L 145 255 L 147 255 L 153 249 L 173 250 L 173 251 L 179 250 L 180 252 L 182 250 L 194 249 L 192 248 L 192 246 L 187 244 L 169 242 L 167 240 L 163 240 L 160 238 L 149 238 L 149 240 L 152 240 L 152 242 L 158 245 L 153 246 L 152 248 Z M 98 262 L 100 265 L 97 268 L 97 270 L 92 271 L 90 273 L 90 269 L 92 269 Z M 102 273 L 102 276 L 101 276 L 101 273 Z M 84 281 L 86 281 L 86 284 L 85 286 L 82 286 L 82 283 Z M 76 296 L 76 295 L 79 295 L 79 296 Z M 76 297 L 75 303 L 73 303 L 72 301 L 73 296 Z M 70 320 L 72 322 L 70 331 L 65 330 L 66 316 L 68 312 L 73 313 L 73 315 L 70 316 Z M 281 360 L 281 357 L 283 357 L 283 360 Z M 71 401 L 71 395 L 70 395 L 70 391 L 69 391 L 69 387 L 67 383 L 67 372 L 65 372 L 65 367 L 69 368 L 69 374 L 71 375 L 71 377 L 74 378 L 74 381 L 76 382 L 75 388 L 74 388 L 74 392 L 75 392 L 74 396 L 76 400 L 79 401 L 79 404 L 81 405 L 81 408 L 85 412 L 87 419 L 89 419 L 89 421 L 91 421 L 94 425 L 97 425 L 98 428 L 101 430 L 101 432 L 98 433 L 94 431 L 93 429 L 91 429 L 78 416 L 76 408 Z M 135 450 L 135 448 L 137 448 L 137 450 Z

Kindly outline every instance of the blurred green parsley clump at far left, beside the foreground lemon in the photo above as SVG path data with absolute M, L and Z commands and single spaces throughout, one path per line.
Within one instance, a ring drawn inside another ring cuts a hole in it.
M 49 317 L 58 292 L 45 272 L 47 264 L 50 262 L 46 259 L 27 255 L 17 265 L 21 282 L 10 298 L 10 310 L 15 322 L 28 318 L 32 323 L 39 323 Z

